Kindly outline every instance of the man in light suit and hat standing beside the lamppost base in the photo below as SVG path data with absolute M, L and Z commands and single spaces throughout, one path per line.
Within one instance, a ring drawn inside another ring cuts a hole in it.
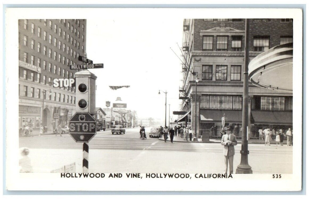
M 222 136 L 221 145 L 224 146 L 223 154 L 224 154 L 224 163 L 225 163 L 225 173 L 227 173 L 227 163 L 230 164 L 230 173 L 233 173 L 233 160 L 235 149 L 234 146 L 237 145 L 236 136 L 231 134 L 231 127 L 225 127 L 224 132 L 225 135 Z

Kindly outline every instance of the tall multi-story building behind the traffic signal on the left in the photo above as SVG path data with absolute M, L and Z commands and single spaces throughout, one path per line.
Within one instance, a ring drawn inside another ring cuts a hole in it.
M 75 87 L 54 88 L 54 78 L 74 78 L 69 65 L 86 50 L 85 19 L 21 19 L 19 24 L 19 126 L 48 131 L 75 113 Z M 44 104 L 44 107 L 43 107 Z

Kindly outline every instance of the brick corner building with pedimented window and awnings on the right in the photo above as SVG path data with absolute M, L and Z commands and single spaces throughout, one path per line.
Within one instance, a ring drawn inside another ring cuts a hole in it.
M 293 19 L 248 20 L 249 60 L 272 47 L 293 42 Z M 203 132 L 220 136 L 224 116 L 225 125 L 241 136 L 245 19 L 185 19 L 183 27 L 179 99 L 180 111 L 186 114 L 177 122 L 192 124 L 194 130 L 197 120 L 199 136 Z M 292 128 L 291 92 L 249 83 L 249 96 L 249 136 L 258 136 L 260 128 Z

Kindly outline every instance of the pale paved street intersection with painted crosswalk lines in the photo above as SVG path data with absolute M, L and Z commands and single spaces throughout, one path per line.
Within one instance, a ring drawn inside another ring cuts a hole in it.
M 146 132 L 149 132 L 146 128 Z M 158 138 L 141 140 L 139 129 L 125 134 L 101 131 L 89 144 L 89 172 L 93 173 L 222 173 L 223 146 L 219 143 L 164 142 Z M 76 162 L 82 172 L 82 143 L 70 135 L 20 137 L 20 147 L 30 148 L 35 172 L 50 172 Z M 235 146 L 234 172 L 240 163 L 241 143 Z M 253 173 L 292 173 L 292 147 L 249 144 L 249 165 Z M 284 165 L 284 166 L 283 166 Z

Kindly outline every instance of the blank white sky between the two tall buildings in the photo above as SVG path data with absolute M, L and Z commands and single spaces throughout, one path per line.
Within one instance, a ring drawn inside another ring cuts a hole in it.
M 183 19 L 112 18 L 87 19 L 86 52 L 103 69 L 89 69 L 97 76 L 96 107 L 121 97 L 127 109 L 139 118 L 164 120 L 167 91 L 167 118 L 178 111 L 180 100 Z M 179 47 L 178 47 L 178 45 Z M 175 51 L 177 56 L 174 54 Z M 112 90 L 109 86 L 129 85 Z M 160 95 L 158 94 L 159 90 Z M 175 120 L 178 116 L 173 116 Z

